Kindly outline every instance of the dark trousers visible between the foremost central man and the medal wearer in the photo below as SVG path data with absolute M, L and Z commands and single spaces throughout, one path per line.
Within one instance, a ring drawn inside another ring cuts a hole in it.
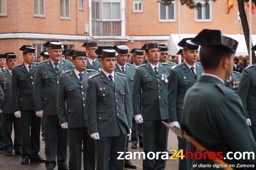
M 137 145 L 138 141 L 139 145 L 143 145 L 142 124 L 136 123 L 135 118 L 132 118 L 131 142 L 132 144 L 135 143 Z

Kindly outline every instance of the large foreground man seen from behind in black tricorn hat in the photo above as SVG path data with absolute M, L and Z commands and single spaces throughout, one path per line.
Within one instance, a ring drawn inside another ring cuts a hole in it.
M 185 95 L 182 115 L 185 131 L 193 135 L 207 150 L 222 152 L 223 157 L 226 157 L 228 151 L 254 152 L 256 143 L 250 128 L 246 125 L 242 101 L 224 84 L 224 80 L 233 71 L 233 59 L 238 42 L 221 35 L 220 30 L 206 29 L 202 30 L 192 42 L 201 45 L 199 55 L 204 73 Z M 235 163 L 235 166 L 236 163 L 243 165 L 256 163 L 251 156 L 250 159 L 246 157 L 223 161 L 229 164 Z M 193 159 L 194 164 L 210 164 L 211 169 L 218 169 L 213 168 L 216 163 L 210 159 Z M 193 169 L 209 168 L 197 166 Z

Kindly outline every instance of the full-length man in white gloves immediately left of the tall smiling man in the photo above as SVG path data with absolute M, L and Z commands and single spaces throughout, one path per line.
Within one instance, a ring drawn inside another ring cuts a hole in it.
M 13 68 L 12 103 L 15 117 L 21 117 L 22 151 L 21 164 L 30 162 L 44 163 L 40 151 L 40 118 L 35 114 L 33 87 L 37 70 L 35 61 L 36 49 L 22 46 L 24 62 Z

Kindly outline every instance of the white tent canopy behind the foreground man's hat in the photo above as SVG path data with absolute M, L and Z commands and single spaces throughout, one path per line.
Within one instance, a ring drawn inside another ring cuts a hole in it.
M 183 38 L 195 37 L 196 35 L 197 34 L 180 34 L 180 40 L 182 40 Z M 243 34 L 224 34 L 224 35 L 227 37 L 233 38 L 239 42 L 236 50 L 236 54 L 235 54 L 237 57 L 240 55 L 242 55 L 243 57 L 245 57 L 246 55 L 249 55 L 246 48 L 246 43 L 245 43 Z M 178 49 L 180 49 L 180 47 L 177 46 L 178 43 L 179 43 L 179 34 L 171 34 L 168 41 L 168 48 L 169 48 L 168 52 L 170 55 L 175 55 Z M 252 44 L 253 45 L 256 44 L 256 35 L 252 35 Z

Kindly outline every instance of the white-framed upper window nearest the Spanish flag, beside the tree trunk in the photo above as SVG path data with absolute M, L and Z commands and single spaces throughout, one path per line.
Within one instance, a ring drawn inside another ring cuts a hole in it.
M 195 8 L 195 21 L 207 22 L 212 21 L 212 1 L 195 2 L 196 5 L 201 3 L 201 6 Z

